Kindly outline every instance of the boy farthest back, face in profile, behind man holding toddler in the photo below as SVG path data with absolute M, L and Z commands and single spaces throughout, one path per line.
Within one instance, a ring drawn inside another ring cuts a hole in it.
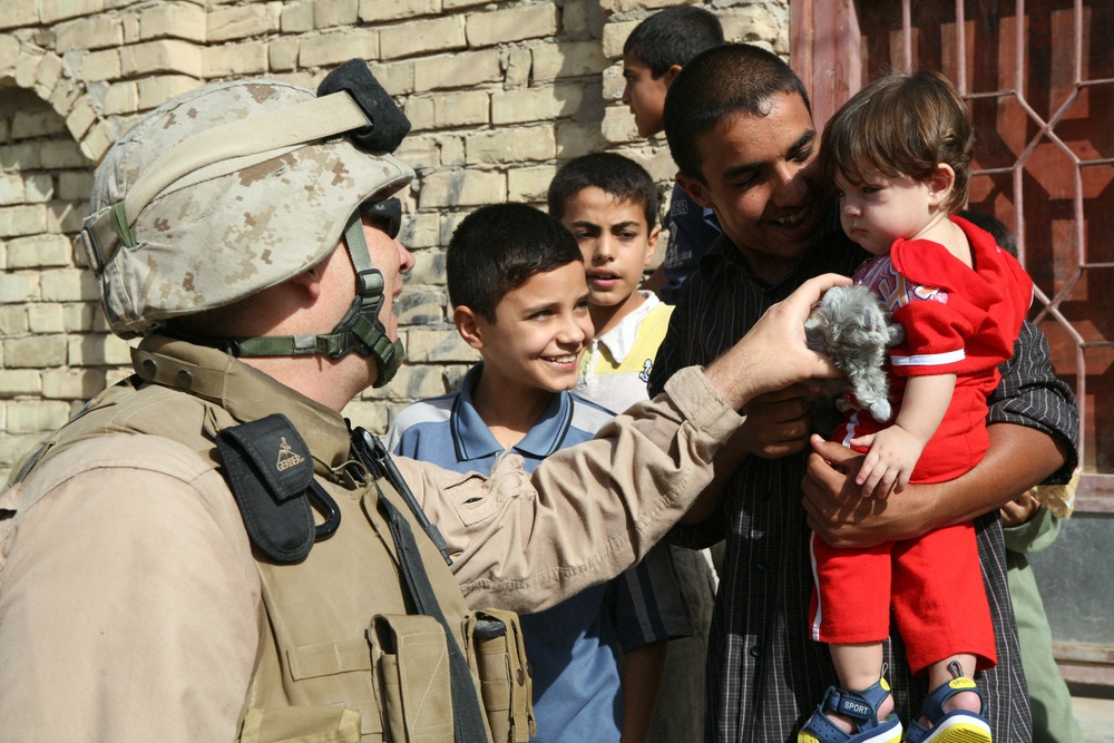
M 661 134 L 665 92 L 688 60 L 723 43 L 723 27 L 713 13 L 693 6 L 666 8 L 638 23 L 623 45 L 623 102 L 634 114 L 638 136 Z M 720 235 L 712 214 L 678 185 L 673 187 L 666 219 L 670 242 L 662 266 L 647 280 L 663 302 L 676 304 L 681 284 Z

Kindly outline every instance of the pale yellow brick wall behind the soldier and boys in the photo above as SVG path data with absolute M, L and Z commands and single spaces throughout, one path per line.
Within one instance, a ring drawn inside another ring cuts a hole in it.
M 788 53 L 789 0 L 707 2 L 729 39 Z M 540 204 L 557 165 L 612 149 L 667 192 L 664 139 L 639 141 L 620 57 L 677 0 L 0 0 L 0 477 L 106 383 L 127 344 L 107 332 L 70 238 L 96 162 L 144 111 L 219 78 L 314 86 L 367 59 L 413 124 L 399 153 L 417 266 L 398 304 L 409 361 L 346 414 L 385 430 L 455 388 L 473 352 L 448 322 L 443 246 L 477 206 Z

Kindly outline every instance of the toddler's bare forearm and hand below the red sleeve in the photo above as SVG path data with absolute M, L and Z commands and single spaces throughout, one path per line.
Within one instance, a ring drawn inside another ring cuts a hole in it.
M 852 447 L 870 447 L 854 478 L 863 496 L 886 498 L 891 491 L 905 490 L 920 452 L 948 411 L 955 389 L 955 374 L 910 377 L 893 426 L 851 439 Z

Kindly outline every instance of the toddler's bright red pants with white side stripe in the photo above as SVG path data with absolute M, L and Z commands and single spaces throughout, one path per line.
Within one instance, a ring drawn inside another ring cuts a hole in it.
M 970 524 L 871 549 L 836 549 L 813 534 L 810 549 L 813 639 L 881 642 L 890 634 L 892 606 L 913 673 L 957 653 L 974 654 L 979 668 L 997 663 Z

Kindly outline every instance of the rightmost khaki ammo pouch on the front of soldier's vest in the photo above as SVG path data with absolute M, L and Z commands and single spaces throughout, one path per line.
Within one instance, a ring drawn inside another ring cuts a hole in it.
M 496 743 L 527 743 L 534 720 L 534 671 L 526 659 L 518 615 L 480 609 L 465 627 L 469 665 L 479 672 L 483 708 Z

